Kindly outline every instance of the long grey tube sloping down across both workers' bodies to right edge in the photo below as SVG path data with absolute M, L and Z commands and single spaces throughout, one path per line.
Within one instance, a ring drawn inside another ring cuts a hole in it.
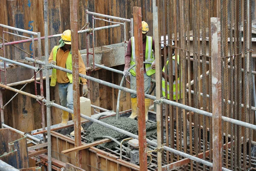
M 42 61 L 36 61 L 35 59 L 32 59 L 32 58 L 25 58 L 25 59 L 28 60 L 28 61 L 32 61 L 32 62 L 36 62 L 38 64 L 45 65 L 45 63 L 42 62 Z M 67 70 L 66 68 L 58 67 L 58 66 L 53 65 L 53 64 L 49 64 L 49 65 L 50 65 L 50 67 L 55 68 L 57 70 L 61 70 L 61 71 L 72 74 L 72 71 Z M 103 84 L 103 85 L 106 85 L 106 86 L 109 86 L 109 87 L 113 87 L 113 88 L 116 88 L 116 89 L 119 89 L 119 90 L 123 90 L 123 91 L 131 93 L 131 94 L 136 94 L 135 90 L 131 90 L 131 89 L 128 89 L 126 87 L 121 87 L 119 85 L 112 84 L 112 83 L 109 83 L 107 81 L 103 81 L 103 80 L 100 80 L 100 79 L 97 79 L 97 78 L 93 78 L 93 77 L 90 77 L 88 75 L 83 75 L 81 73 L 79 73 L 79 76 L 81 78 L 85 78 L 85 79 L 88 79 L 88 80 L 91 80 L 91 81 L 95 81 L 99 84 Z M 148 98 L 148 99 L 156 100 L 156 96 L 152 96 L 152 95 L 149 95 L 149 94 L 145 94 L 145 97 Z M 207 111 L 200 110 L 200 109 L 197 109 L 197 108 L 194 108 L 194 107 L 190 107 L 190 106 L 187 106 L 187 105 L 184 105 L 184 104 L 180 104 L 180 103 L 177 103 L 175 101 L 170 101 L 170 100 L 167 100 L 167 99 L 161 99 L 160 101 L 157 101 L 157 102 L 163 102 L 165 104 L 170 104 L 170 105 L 175 106 L 175 107 L 180 107 L 182 109 L 189 110 L 189 111 L 192 111 L 192 112 L 204 115 L 204 116 L 212 117 L 212 113 L 209 113 Z M 228 117 L 225 117 L 225 116 L 221 116 L 221 118 L 225 122 L 230 122 L 230 123 L 233 123 L 233 124 L 236 124 L 236 125 L 240 125 L 240 126 L 243 126 L 243 127 L 246 127 L 246 128 L 256 130 L 256 125 L 249 124 L 247 122 L 242 122 L 242 121 L 239 121 L 239 120 L 236 120 L 236 119 L 231 119 L 231 118 L 228 118 Z

